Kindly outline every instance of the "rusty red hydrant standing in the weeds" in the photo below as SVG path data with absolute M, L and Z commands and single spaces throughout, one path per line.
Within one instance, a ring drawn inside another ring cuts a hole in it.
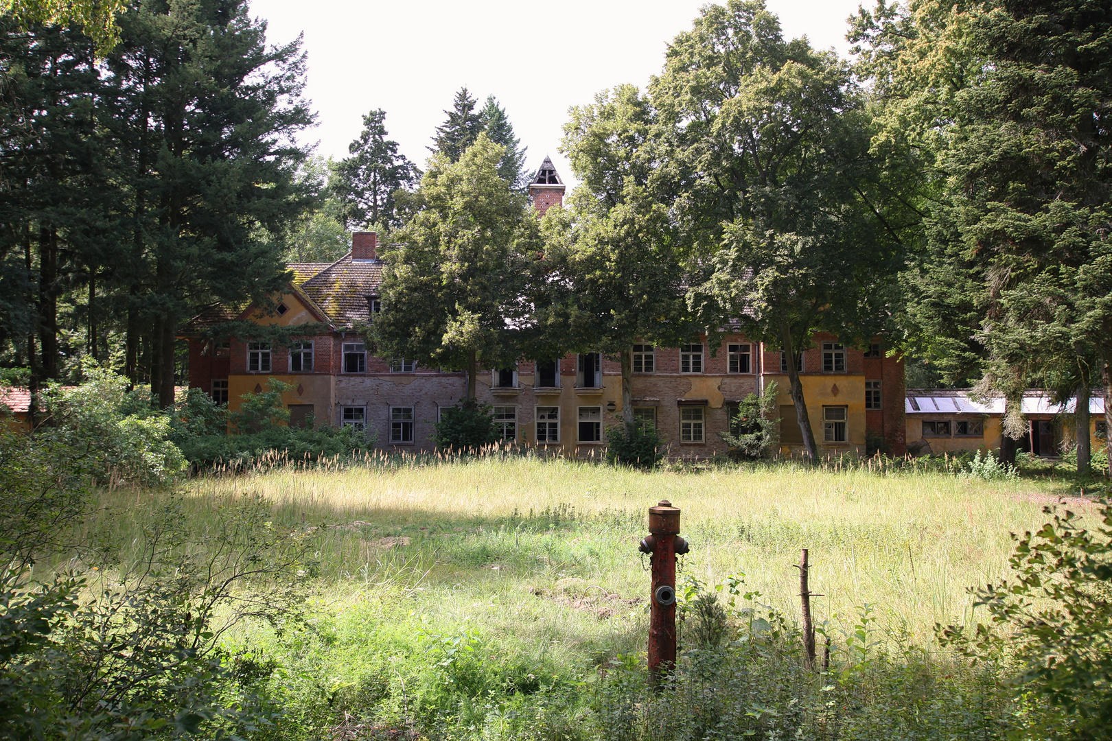
M 687 552 L 679 537 L 679 508 L 668 500 L 648 508 L 648 538 L 638 549 L 649 554 L 653 589 L 648 608 L 648 677 L 656 684 L 676 663 L 676 555 Z

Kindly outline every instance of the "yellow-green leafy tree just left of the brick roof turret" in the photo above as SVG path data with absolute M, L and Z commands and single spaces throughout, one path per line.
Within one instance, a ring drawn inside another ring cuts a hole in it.
M 458 162 L 429 160 L 414 217 L 383 251 L 383 311 L 371 326 L 386 357 L 468 371 L 517 362 L 537 219 L 498 174 L 505 148 L 479 134 Z

